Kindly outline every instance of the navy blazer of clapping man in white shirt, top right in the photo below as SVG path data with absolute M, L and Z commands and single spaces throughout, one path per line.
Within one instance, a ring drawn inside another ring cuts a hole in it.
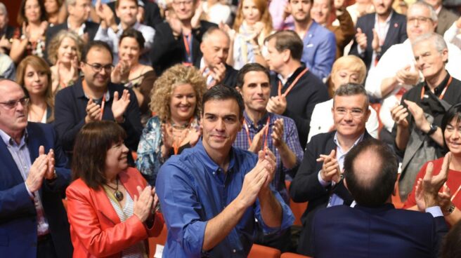
M 368 15 L 364 15 L 357 20 L 357 28 L 361 28 L 362 32 L 365 33 L 367 36 L 367 48 L 365 52 L 361 55 L 358 54 L 357 49 L 357 42 L 354 40 L 352 47 L 351 47 L 351 55 L 357 55 L 361 57 L 365 65 L 367 66 L 367 70 L 370 69 L 370 65 L 372 62 L 373 49 L 371 47 L 371 42 L 373 39 L 373 31 L 372 29 L 375 27 L 375 13 L 370 13 Z M 386 34 L 386 39 L 384 39 L 384 44 L 381 47 L 381 54 L 378 55 L 378 60 L 384 53 L 386 53 L 387 49 L 389 49 L 392 45 L 403 43 L 405 39 L 408 38 L 407 36 L 407 20 L 404 15 L 398 14 L 396 11 L 392 11 L 391 20 L 389 23 L 389 30 Z

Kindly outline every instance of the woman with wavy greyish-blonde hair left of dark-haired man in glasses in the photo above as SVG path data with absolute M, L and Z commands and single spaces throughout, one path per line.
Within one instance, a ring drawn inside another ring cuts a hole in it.
M 83 41 L 74 32 L 60 31 L 48 46 L 48 60 L 53 64 L 51 77 L 53 93 L 74 85 L 79 78 L 79 60 L 82 57 Z

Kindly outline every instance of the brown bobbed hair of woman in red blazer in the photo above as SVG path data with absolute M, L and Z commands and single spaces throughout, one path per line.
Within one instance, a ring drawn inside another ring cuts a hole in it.
M 72 179 L 80 178 L 95 190 L 105 184 L 108 149 L 125 137 L 125 130 L 114 121 L 95 121 L 84 125 L 75 139 Z

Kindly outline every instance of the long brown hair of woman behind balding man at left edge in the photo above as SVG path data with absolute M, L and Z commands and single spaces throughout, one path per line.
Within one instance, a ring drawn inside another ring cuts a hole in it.
M 36 55 L 27 55 L 27 57 L 25 57 L 18 64 L 18 69 L 16 69 L 16 82 L 22 87 L 27 95 L 29 95 L 29 93 L 27 92 L 27 88 L 25 88 L 24 85 L 24 76 L 25 69 L 28 65 L 30 65 L 37 72 L 45 72 L 46 77 L 48 78 L 48 85 L 46 85 L 46 92 L 43 97 L 45 98 L 46 106 L 51 108 L 51 116 L 46 119 L 46 123 L 51 123 L 54 120 L 54 95 L 53 87 L 51 86 L 51 69 L 43 58 L 37 57 Z

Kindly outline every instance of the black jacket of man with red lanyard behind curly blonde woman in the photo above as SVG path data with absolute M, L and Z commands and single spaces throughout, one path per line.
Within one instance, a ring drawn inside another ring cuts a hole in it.
M 202 36 L 210 27 L 217 27 L 212 22 L 201 20 L 200 27 L 193 29 L 192 41 L 192 63 L 200 62 L 202 53 L 200 52 L 200 43 Z M 173 35 L 173 30 L 169 27 L 168 22 L 162 22 L 155 26 L 154 45 L 150 49 L 150 60 L 152 67 L 158 75 L 164 70 L 172 67 L 174 64 L 186 62 L 186 46 L 184 46 L 183 36 L 180 35 L 176 39 Z

